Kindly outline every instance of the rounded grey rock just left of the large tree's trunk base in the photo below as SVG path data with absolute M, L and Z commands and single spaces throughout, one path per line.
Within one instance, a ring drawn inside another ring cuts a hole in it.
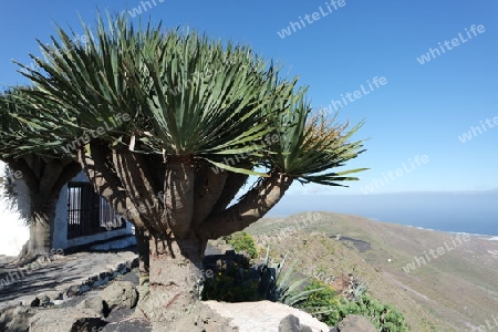
M 104 308 L 111 312 L 114 309 L 132 309 L 138 301 L 138 292 L 129 281 L 115 281 L 101 292 Z

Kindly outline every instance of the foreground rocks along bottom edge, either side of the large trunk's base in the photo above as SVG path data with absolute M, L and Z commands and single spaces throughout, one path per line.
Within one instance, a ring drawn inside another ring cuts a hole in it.
M 226 303 L 199 302 L 189 315 L 166 330 L 154 330 L 136 315 L 137 269 L 111 282 L 73 297 L 59 305 L 45 295 L 35 305 L 15 305 L 0 310 L 0 331 L 175 331 L 175 332 L 375 332 L 365 318 L 351 315 L 338 328 L 329 328 L 305 312 L 270 301 Z

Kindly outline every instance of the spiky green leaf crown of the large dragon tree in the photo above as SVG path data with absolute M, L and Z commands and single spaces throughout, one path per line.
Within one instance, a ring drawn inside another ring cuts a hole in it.
M 17 108 L 7 111 L 24 128 L 11 153 L 74 154 L 100 139 L 250 175 L 266 167 L 303 183 L 334 186 L 362 170 L 331 172 L 363 152 L 350 141 L 361 124 L 346 131 L 312 117 L 307 90 L 250 48 L 160 24 L 135 30 L 126 14 L 83 30 L 75 41 L 58 28 L 52 44 L 39 41 L 43 59 L 31 55 L 37 68 L 21 65 L 33 86 L 20 89 L 9 106 Z

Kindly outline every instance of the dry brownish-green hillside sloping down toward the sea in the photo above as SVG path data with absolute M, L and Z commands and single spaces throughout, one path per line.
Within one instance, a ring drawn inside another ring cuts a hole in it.
M 264 218 L 246 231 L 310 277 L 353 272 L 411 331 L 470 331 L 498 320 L 498 241 L 332 214 Z M 492 325 L 495 326 L 495 325 Z

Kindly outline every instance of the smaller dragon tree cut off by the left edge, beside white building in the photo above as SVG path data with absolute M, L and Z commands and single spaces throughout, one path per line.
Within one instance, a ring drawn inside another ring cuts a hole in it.
M 30 114 L 33 108 L 21 102 L 20 87 L 4 91 L 0 95 L 0 160 L 17 180 L 23 181 L 29 191 L 30 207 L 27 221 L 30 239 L 18 257 L 18 264 L 33 261 L 46 255 L 51 248 L 55 206 L 62 187 L 73 178 L 81 166 L 58 146 L 48 146 L 46 138 L 38 136 L 40 131 L 19 120 L 17 114 Z M 50 134 L 49 134 L 50 135 Z M 27 141 L 30 139 L 30 145 Z M 29 149 L 24 149 L 24 148 Z M 15 185 L 15 184 L 14 184 Z

